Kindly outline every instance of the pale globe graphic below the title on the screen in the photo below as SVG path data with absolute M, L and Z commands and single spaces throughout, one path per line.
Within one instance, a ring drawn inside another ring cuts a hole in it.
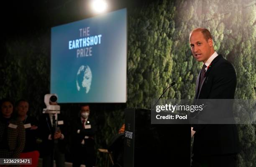
M 89 66 L 82 65 L 77 71 L 77 91 L 90 91 L 92 83 L 92 71 Z

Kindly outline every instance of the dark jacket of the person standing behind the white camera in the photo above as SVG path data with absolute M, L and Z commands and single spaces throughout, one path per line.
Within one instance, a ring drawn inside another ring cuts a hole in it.
M 58 114 L 57 121 L 64 121 L 61 117 L 61 114 Z M 57 139 L 58 140 L 58 148 L 61 153 L 66 152 L 66 138 L 67 138 L 67 133 L 65 128 L 65 121 L 64 124 L 57 124 L 57 127 L 60 128 L 61 134 L 64 135 L 64 139 Z M 54 147 L 54 142 L 53 140 L 49 140 L 49 134 L 51 134 L 53 131 L 53 128 L 51 126 L 51 119 L 49 117 L 49 114 L 42 114 L 42 116 L 39 118 L 39 125 L 38 125 L 38 137 L 42 139 L 42 143 L 40 146 L 40 154 L 41 155 L 49 155 L 51 154 L 52 148 Z M 52 137 L 53 138 L 53 137 Z

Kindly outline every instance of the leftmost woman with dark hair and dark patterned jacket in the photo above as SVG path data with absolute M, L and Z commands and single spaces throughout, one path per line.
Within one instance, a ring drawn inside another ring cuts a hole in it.
M 12 101 L 1 100 L 0 107 L 0 158 L 20 158 L 25 146 L 24 125 L 13 116 Z

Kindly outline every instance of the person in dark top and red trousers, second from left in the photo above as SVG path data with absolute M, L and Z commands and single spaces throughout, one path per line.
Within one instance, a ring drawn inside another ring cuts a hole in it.
M 20 99 L 16 102 L 15 109 L 18 113 L 18 118 L 23 122 L 26 130 L 26 143 L 23 152 L 20 154 L 20 158 L 31 158 L 32 165 L 22 165 L 23 167 L 37 167 L 39 152 L 36 144 L 36 136 L 38 133 L 38 121 L 35 117 L 29 116 L 28 101 Z

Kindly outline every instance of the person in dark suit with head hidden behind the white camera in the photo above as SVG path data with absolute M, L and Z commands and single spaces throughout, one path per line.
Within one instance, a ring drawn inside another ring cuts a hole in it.
M 50 104 L 57 105 L 56 102 Z M 67 128 L 64 123 L 61 114 L 45 113 L 39 118 L 38 133 L 42 139 L 40 155 L 43 158 L 43 167 L 53 166 L 52 158 L 56 161 L 56 167 L 65 166 Z

